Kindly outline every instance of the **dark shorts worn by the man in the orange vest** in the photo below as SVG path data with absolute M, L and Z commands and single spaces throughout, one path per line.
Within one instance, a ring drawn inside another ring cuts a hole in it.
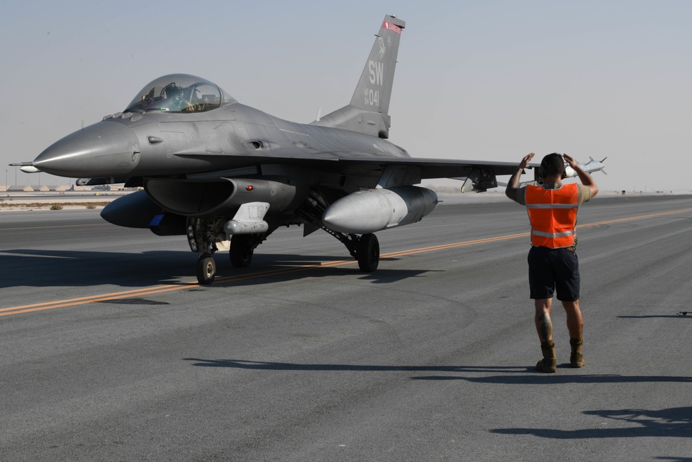
M 570 249 L 531 247 L 529 250 L 531 299 L 579 300 L 579 260 Z

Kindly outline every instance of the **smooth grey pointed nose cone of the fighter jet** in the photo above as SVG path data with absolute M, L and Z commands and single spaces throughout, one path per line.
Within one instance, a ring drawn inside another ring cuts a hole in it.
M 115 177 L 131 172 L 139 156 L 132 130 L 122 123 L 101 121 L 53 143 L 33 166 L 61 177 Z

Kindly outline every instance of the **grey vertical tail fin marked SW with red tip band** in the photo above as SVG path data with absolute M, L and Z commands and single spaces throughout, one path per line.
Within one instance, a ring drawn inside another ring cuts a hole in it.
M 385 16 L 379 32 L 375 35 L 375 43 L 367 57 L 351 104 L 323 116 L 320 121 L 313 124 L 343 128 L 380 138 L 389 137 L 388 111 L 399 40 L 404 27 L 406 22 L 401 19 Z

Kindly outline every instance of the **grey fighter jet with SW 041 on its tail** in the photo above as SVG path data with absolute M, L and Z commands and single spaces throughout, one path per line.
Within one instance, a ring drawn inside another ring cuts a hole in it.
M 323 229 L 358 261 L 379 264 L 376 231 L 420 221 L 437 206 L 421 179 L 462 177 L 462 191 L 498 186 L 516 163 L 412 158 L 389 137 L 388 109 L 404 21 L 385 16 L 351 103 L 310 124 L 238 103 L 217 85 L 172 74 L 146 85 L 127 108 L 70 134 L 26 172 L 125 183 L 101 216 L 158 236 L 187 236 L 197 280 L 214 281 L 215 251 L 234 267 L 280 226 Z M 535 167 L 535 166 L 534 166 Z M 602 166 L 601 166 L 602 168 Z M 230 241 L 230 242 L 229 242 Z

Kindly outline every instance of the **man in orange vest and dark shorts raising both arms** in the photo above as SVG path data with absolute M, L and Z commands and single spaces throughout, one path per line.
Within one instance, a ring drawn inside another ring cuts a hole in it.
M 556 371 L 553 326 L 550 320 L 553 293 L 567 312 L 567 330 L 570 331 L 570 365 L 582 367 L 581 352 L 583 318 L 579 309 L 579 260 L 576 258 L 576 215 L 583 202 L 597 195 L 598 186 L 567 154 L 548 154 L 543 158 L 538 176 L 543 184 L 519 187 L 519 177 L 534 153 L 519 163 L 505 194 L 525 205 L 531 222 L 531 250 L 529 251 L 529 287 L 536 305 L 536 330 L 540 339 L 543 359 L 536 364 L 541 372 Z M 563 161 L 564 158 L 564 161 Z M 579 176 L 582 184 L 563 184 L 565 161 Z

